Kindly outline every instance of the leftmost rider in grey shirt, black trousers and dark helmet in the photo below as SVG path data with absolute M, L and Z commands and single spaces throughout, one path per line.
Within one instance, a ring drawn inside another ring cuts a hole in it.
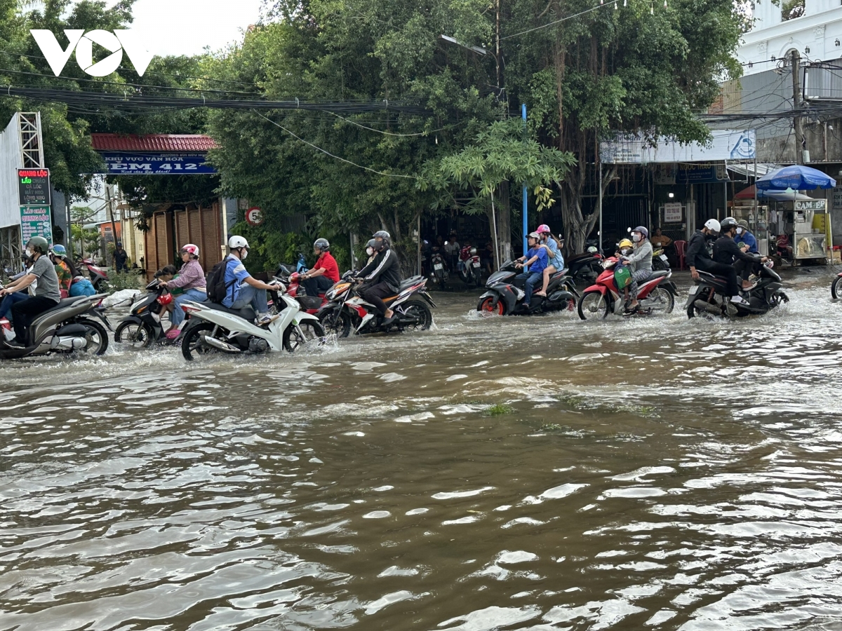
M 61 300 L 56 268 L 47 256 L 49 251 L 50 246 L 43 236 L 33 236 L 29 239 L 26 244 L 26 253 L 35 261 L 32 268 L 7 288 L 0 289 L 0 295 L 6 295 L 22 291 L 35 284 L 35 293 L 31 298 L 21 300 L 12 306 L 14 335 L 17 341 L 6 342 L 9 346 L 26 347 L 29 325 L 38 315 L 52 309 Z

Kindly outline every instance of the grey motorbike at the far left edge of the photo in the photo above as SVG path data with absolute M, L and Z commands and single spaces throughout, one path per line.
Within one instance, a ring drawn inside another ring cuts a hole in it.
M 0 359 L 74 352 L 102 355 L 108 350 L 108 333 L 93 318 L 104 321 L 102 312 L 96 309 L 104 297 L 96 294 L 60 300 L 29 326 L 25 347 L 9 346 L 5 336 L 0 336 Z

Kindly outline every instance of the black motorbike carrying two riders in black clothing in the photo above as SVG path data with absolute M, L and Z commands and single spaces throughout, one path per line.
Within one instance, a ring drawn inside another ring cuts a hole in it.
M 771 261 L 760 267 L 759 280 L 754 289 L 748 292 L 748 305 L 731 302 L 724 278 L 699 270 L 699 279 L 690 287 L 690 294 L 687 296 L 687 317 L 707 314 L 727 318 L 763 315 L 781 303 L 789 302 L 789 297 L 781 289 L 781 277 L 773 271 L 773 267 L 774 263 Z

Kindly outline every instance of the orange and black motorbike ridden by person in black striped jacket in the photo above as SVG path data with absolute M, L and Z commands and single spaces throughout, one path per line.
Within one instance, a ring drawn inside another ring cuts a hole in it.
M 407 278 L 397 294 L 383 299 L 386 306 L 397 313 L 397 318 L 386 326 L 381 324 L 383 318 L 377 315 L 376 307 L 360 295 L 359 285 L 343 289 L 341 284 L 340 281 L 331 288 L 336 290 L 332 300 L 317 313 L 319 321 L 338 337 L 349 337 L 351 331 L 358 335 L 409 328 L 426 331 L 433 325 L 430 307 L 435 309 L 435 303 L 427 293 L 427 278 L 424 276 Z M 418 300 L 419 296 L 422 300 Z

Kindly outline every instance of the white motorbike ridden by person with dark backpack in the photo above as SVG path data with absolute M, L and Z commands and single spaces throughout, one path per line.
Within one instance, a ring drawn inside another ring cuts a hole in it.
M 182 309 L 190 319 L 182 334 L 184 358 L 192 361 L 208 353 L 293 353 L 308 342 L 321 342 L 325 333 L 318 318 L 302 311 L 298 301 L 284 293 L 283 284 L 275 286 L 273 304 L 279 308 L 278 317 L 268 326 L 254 324 L 251 306 L 229 309 L 212 302 L 185 301 Z

